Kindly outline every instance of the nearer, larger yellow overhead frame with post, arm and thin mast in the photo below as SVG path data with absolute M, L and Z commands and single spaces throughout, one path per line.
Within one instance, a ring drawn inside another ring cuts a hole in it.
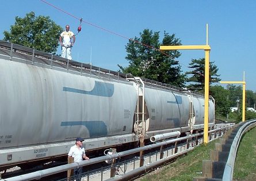
M 208 122 L 209 122 L 209 54 L 211 47 L 208 45 L 208 24 L 206 45 L 180 45 L 180 46 L 160 46 L 161 50 L 178 49 L 204 49 L 205 51 L 205 74 L 204 74 L 204 143 L 208 143 Z

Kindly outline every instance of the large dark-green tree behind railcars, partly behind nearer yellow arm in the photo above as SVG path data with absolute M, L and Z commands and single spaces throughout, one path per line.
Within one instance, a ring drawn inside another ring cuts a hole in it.
M 184 87 L 185 75 L 181 74 L 181 66 L 177 59 L 181 53 L 178 51 L 159 52 L 160 45 L 181 45 L 175 34 L 163 33 L 162 43 L 159 42 L 159 32 L 144 29 L 140 37 L 135 37 L 127 43 L 128 67 L 120 65 L 120 71 L 133 76 L 140 76 L 162 83 Z

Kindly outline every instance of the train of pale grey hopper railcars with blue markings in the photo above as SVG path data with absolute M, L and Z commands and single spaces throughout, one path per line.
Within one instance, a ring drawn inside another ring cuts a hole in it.
M 0 41 L 0 168 L 203 129 L 204 97 Z M 209 100 L 209 127 L 214 102 Z

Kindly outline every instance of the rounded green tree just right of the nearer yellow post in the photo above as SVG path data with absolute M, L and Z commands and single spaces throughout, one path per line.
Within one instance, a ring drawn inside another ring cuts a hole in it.
M 221 86 L 211 86 L 210 95 L 215 99 L 215 113 L 226 117 L 230 113 L 230 91 Z

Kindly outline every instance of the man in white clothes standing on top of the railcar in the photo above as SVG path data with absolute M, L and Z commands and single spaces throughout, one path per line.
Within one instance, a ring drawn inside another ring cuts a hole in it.
M 73 40 L 72 40 L 73 39 Z M 71 60 L 71 48 L 75 43 L 75 34 L 70 31 L 70 25 L 66 25 L 66 31 L 60 34 L 60 45 L 62 45 L 62 57 Z

